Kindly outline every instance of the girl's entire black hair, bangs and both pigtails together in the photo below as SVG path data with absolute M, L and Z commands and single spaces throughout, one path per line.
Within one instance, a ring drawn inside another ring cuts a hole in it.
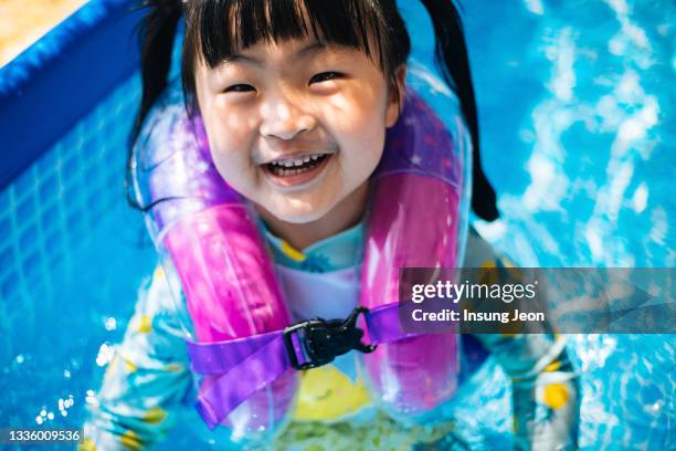
M 496 195 L 479 160 L 476 102 L 462 21 L 451 0 L 421 2 L 434 27 L 436 64 L 458 96 L 472 135 L 472 209 L 479 218 L 492 221 L 498 217 Z M 181 80 L 189 109 L 197 106 L 194 65 L 198 61 L 214 67 L 262 40 L 281 42 L 314 36 L 320 42 L 361 50 L 378 63 L 394 90 L 397 70 L 406 62 L 411 51 L 395 0 L 146 0 L 141 7 L 150 11 L 141 24 L 142 97 L 130 144 L 167 86 L 173 38 L 181 17 L 186 20 Z M 371 33 L 377 49 L 370 48 Z M 129 162 L 130 158 L 129 150 Z

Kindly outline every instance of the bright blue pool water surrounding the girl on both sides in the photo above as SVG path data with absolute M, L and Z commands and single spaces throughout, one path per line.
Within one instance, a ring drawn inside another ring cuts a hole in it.
M 430 27 L 408 3 L 420 40 Z M 484 166 L 503 213 L 477 229 L 521 265 L 674 268 L 676 4 L 473 1 L 465 10 Z M 134 76 L 0 191 L 0 426 L 82 422 L 152 271 L 122 185 L 138 96 Z M 674 344 L 673 335 L 569 336 L 582 374 L 582 448 L 676 448 Z M 473 380 L 458 406 L 464 436 L 505 449 L 505 376 L 488 361 Z M 199 449 L 190 432 L 172 440 Z

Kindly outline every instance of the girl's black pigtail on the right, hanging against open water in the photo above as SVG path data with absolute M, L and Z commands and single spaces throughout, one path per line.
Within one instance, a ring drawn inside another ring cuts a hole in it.
M 434 25 L 436 64 L 446 83 L 457 94 L 463 115 L 472 134 L 474 148 L 472 154 L 472 210 L 479 218 L 493 221 L 499 217 L 499 212 L 496 207 L 495 190 L 482 169 L 476 101 L 463 24 L 457 9 L 451 0 L 421 1 Z

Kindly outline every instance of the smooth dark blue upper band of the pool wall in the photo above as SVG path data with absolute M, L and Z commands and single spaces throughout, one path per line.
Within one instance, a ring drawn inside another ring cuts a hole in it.
M 0 188 L 136 71 L 131 4 L 92 1 L 0 67 Z

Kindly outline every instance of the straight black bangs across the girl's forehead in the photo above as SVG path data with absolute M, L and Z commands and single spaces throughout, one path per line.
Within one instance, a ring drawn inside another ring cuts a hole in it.
M 214 67 L 239 51 L 264 42 L 314 38 L 363 51 L 387 71 L 381 48 L 387 33 L 373 0 L 203 0 L 188 2 L 186 45 Z M 372 39 L 369 40 L 369 32 Z

